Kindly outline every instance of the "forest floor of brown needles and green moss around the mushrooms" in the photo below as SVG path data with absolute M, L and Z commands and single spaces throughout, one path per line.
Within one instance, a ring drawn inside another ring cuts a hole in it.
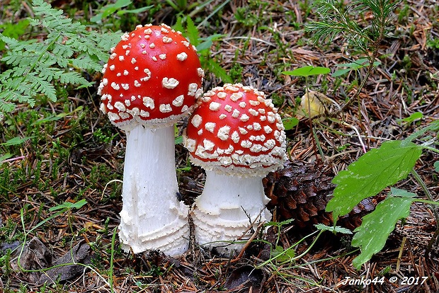
M 155 1 L 137 2 L 135 8 Z M 152 9 L 139 13 L 135 21 L 173 25 L 178 13 L 190 13 L 164 2 L 157 2 L 160 8 L 154 13 Z M 79 20 L 89 13 L 82 1 L 59 0 L 52 5 Z M 23 5 L 5 1 L 1 6 L 5 21 L 18 21 L 30 13 L 24 1 Z M 372 71 L 358 100 L 335 117 L 314 120 L 312 127 L 301 120 L 287 130 L 290 161 L 302 162 L 305 173 L 321 172 L 330 180 L 364 149 L 404 139 L 439 118 L 438 7 L 435 0 L 399 4 L 392 19 L 393 37 L 381 43 L 381 64 Z M 327 111 L 336 111 L 354 95 L 365 74 L 360 69 L 338 77 L 312 76 L 307 81 L 282 74 L 305 65 L 334 71 L 337 64 L 358 58 L 341 38 L 329 45 L 314 45 L 304 25 L 316 16 L 298 1 L 210 1 L 192 16 L 195 24 L 207 19 L 199 28 L 202 37 L 224 35 L 214 42 L 211 57 L 232 81 L 264 91 L 283 118 L 295 116 L 306 86 L 331 98 Z M 120 29 L 130 30 L 135 21 L 120 21 Z M 358 21 L 367 23 L 367 15 L 358 16 Z M 382 251 L 360 270 L 352 265 L 359 253 L 350 246 L 352 236 L 329 233 L 291 263 L 270 259 L 273 251 L 257 241 L 244 255 L 229 258 L 199 247 L 181 258 L 154 251 L 123 253 L 117 235 L 112 239 L 122 207 L 125 134 L 99 110 L 96 90 L 101 74 L 89 77 L 96 81 L 94 88 L 68 92 L 56 103 L 46 101 L 33 109 L 20 105 L 0 122 L 0 143 L 17 136 L 37 137 L 20 145 L 0 144 L 0 157 L 14 154 L 0 165 L 0 292 L 439 292 L 439 243 L 431 240 L 438 238 L 438 222 L 435 208 L 421 203 L 412 205 L 409 217 L 398 222 Z M 223 82 L 215 72 L 206 71 L 205 90 Z M 404 121 L 416 112 L 423 116 Z M 35 123 L 59 113 L 65 115 Z M 438 160 L 437 153 L 426 151 L 416 164 L 435 201 L 439 201 L 439 174 L 433 163 Z M 203 190 L 205 175 L 200 168 L 188 166 L 187 151 L 180 144 L 176 163 L 183 199 L 193 202 Z M 319 186 L 323 179 L 314 176 L 312 180 Z M 396 187 L 426 198 L 411 176 Z M 269 188 L 266 191 L 269 195 Z M 86 200 L 85 205 L 79 205 L 81 200 Z M 70 202 L 72 208 L 62 209 L 63 202 Z M 284 219 L 280 213 L 275 215 L 275 220 Z M 271 227 L 259 240 L 280 235 L 279 245 L 286 249 L 297 243 L 295 255 L 300 255 L 312 243 L 314 236 L 304 239 L 309 233 L 309 226 L 301 229 L 293 221 L 278 229 Z M 23 241 L 30 242 L 23 246 Z M 20 251 L 25 271 L 17 265 Z M 80 264 L 40 270 L 69 263 L 70 255 Z

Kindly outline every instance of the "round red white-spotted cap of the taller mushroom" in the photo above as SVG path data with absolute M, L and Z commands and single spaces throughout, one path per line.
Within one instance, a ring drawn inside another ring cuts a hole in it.
M 111 50 L 98 88 L 114 125 L 163 125 L 190 113 L 203 93 L 195 47 L 168 25 L 137 25 Z

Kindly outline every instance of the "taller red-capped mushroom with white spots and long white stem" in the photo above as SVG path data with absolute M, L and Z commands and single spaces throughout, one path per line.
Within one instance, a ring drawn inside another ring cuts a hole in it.
M 174 123 L 202 95 L 195 47 L 168 25 L 137 25 L 111 50 L 101 110 L 125 130 L 119 237 L 125 251 L 188 248 L 188 207 L 177 199 Z

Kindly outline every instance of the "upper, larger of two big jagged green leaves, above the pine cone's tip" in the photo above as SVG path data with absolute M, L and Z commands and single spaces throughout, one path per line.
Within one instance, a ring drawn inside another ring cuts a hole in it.
M 421 152 L 421 146 L 399 140 L 368 151 L 333 178 L 337 186 L 326 210 L 333 212 L 334 219 L 348 214 L 361 200 L 406 178 Z

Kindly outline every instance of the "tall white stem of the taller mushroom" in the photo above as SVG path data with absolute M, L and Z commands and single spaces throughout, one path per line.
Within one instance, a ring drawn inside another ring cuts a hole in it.
M 188 207 L 177 199 L 174 129 L 137 125 L 127 132 L 119 236 L 125 251 L 188 248 Z

